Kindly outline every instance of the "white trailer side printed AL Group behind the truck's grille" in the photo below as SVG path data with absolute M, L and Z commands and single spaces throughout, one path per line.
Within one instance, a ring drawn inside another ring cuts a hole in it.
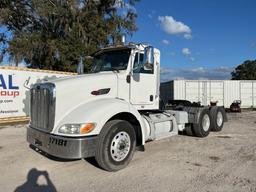
M 29 88 L 34 83 L 73 73 L 0 67 L 0 118 L 29 116 Z

